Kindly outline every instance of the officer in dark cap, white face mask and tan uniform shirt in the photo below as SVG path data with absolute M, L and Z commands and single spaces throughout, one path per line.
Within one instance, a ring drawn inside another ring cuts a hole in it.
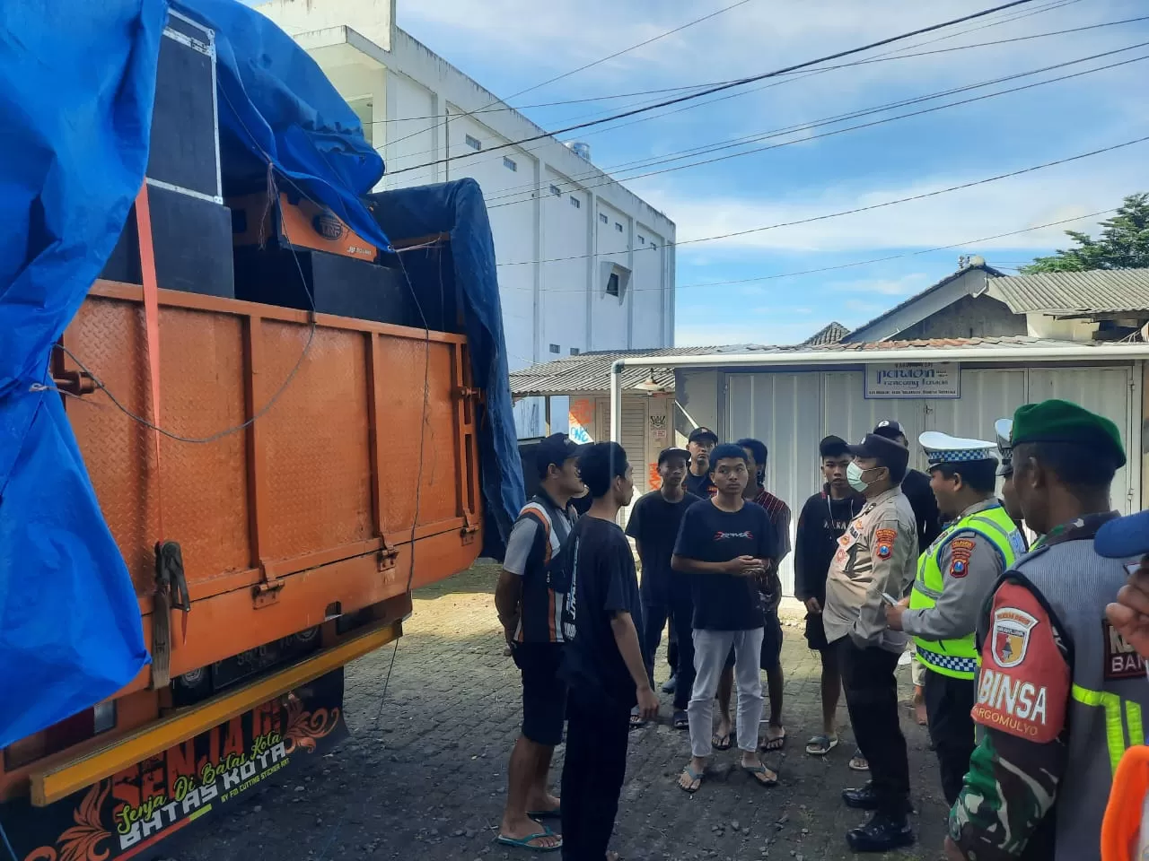
M 910 763 L 897 721 L 899 656 L 905 635 L 886 625 L 882 595 L 896 600 L 913 580 L 918 556 L 917 522 L 901 490 L 910 452 L 904 445 L 867 434 L 851 445 L 847 479 L 865 505 L 838 540 L 826 577 L 823 625 L 839 650 L 846 705 L 872 779 L 842 791 L 847 806 L 873 810 L 872 819 L 846 835 L 854 852 L 886 852 L 913 843 Z

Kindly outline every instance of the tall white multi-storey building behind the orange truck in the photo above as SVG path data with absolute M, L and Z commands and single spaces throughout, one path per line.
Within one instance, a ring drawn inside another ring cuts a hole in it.
M 307 49 L 358 114 L 387 165 L 380 189 L 478 180 L 511 370 L 673 343 L 673 222 L 554 138 L 487 155 L 545 130 L 399 29 L 394 0 L 271 0 L 257 8 Z M 437 163 L 461 155 L 470 157 Z M 565 404 L 555 406 L 566 416 Z M 516 422 L 519 436 L 541 434 L 541 401 L 520 402 Z

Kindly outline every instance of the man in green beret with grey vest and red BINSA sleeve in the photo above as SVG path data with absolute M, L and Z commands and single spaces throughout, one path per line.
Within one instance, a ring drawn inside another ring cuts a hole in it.
M 1124 564 L 1093 538 L 1117 513 L 1117 426 L 1065 401 L 1013 416 L 1013 489 L 1042 537 L 981 611 L 982 730 L 949 815 L 949 859 L 1096 861 L 1112 771 L 1144 739 L 1149 685 L 1105 619 Z

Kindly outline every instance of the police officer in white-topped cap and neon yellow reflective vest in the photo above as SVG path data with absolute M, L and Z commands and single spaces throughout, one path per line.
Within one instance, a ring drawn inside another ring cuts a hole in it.
M 925 701 L 941 766 L 941 786 L 953 805 L 973 753 L 978 611 L 998 577 L 1023 552 L 1021 535 L 994 496 L 994 443 L 936 430 L 918 437 L 930 464 L 930 487 L 949 526 L 918 559 L 908 602 L 886 607 L 894 630 L 913 635 L 926 668 Z M 907 603 L 909 608 L 907 608 Z

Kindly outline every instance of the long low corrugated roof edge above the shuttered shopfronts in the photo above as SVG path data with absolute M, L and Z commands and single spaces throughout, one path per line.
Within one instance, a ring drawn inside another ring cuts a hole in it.
M 1098 350 L 1105 349 L 1106 342 L 1096 342 L 1094 346 Z M 585 352 L 580 356 L 569 356 L 542 365 L 515 371 L 510 374 L 510 389 L 516 397 L 529 397 L 534 395 L 570 395 L 584 393 L 607 393 L 610 390 L 610 369 L 616 359 L 623 357 L 657 357 L 657 356 L 710 356 L 722 352 L 732 355 L 746 355 L 749 352 L 762 352 L 763 355 L 777 355 L 779 352 L 862 352 L 878 350 L 902 350 L 918 349 L 927 354 L 931 349 L 938 348 L 966 348 L 966 347 L 1007 347 L 1024 350 L 1027 347 L 1049 348 L 1074 348 L 1082 344 L 1077 341 L 1056 341 L 1043 338 L 1028 338 L 1025 335 L 1010 335 L 1003 338 L 934 338 L 917 341 L 871 341 L 849 342 L 832 344 L 794 344 L 791 347 L 765 347 L 762 344 L 740 344 L 731 347 L 665 347 L 657 350 L 620 350 L 615 352 Z M 928 360 L 928 355 L 923 355 L 923 360 Z M 843 359 L 848 362 L 849 359 Z M 674 372 L 665 367 L 625 367 L 623 369 L 623 389 L 634 389 L 634 387 L 653 377 L 654 381 L 666 391 L 674 390 Z

